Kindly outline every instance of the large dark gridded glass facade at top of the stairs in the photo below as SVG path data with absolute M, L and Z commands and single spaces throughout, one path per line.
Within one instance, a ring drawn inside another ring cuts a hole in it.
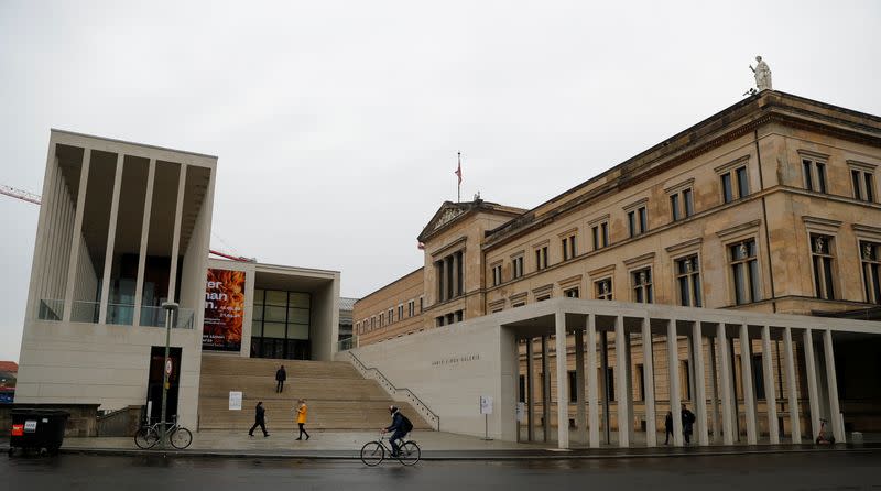
M 308 360 L 311 304 L 308 293 L 254 288 L 251 358 Z

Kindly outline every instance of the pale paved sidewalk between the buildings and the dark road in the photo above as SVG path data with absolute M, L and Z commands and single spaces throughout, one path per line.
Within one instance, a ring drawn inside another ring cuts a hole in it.
M 377 439 L 378 432 L 318 432 L 308 440 L 295 440 L 291 432 L 259 433 L 249 437 L 246 432 L 200 432 L 193 434 L 193 444 L 186 450 L 171 448 L 141 450 L 133 438 L 90 437 L 64 439 L 64 454 L 95 455 L 167 455 L 187 457 L 240 458 L 300 458 L 300 459 L 359 459 L 361 446 Z M 529 459 L 622 459 L 645 457 L 686 457 L 744 454 L 791 454 L 814 451 L 879 451 L 881 444 L 860 446 L 837 445 L 754 445 L 708 447 L 602 447 L 561 450 L 554 443 L 516 444 L 483 440 L 480 437 L 440 432 L 413 432 L 410 439 L 418 443 L 423 460 L 529 460 Z M 9 448 L 9 439 L 0 439 L 0 451 Z

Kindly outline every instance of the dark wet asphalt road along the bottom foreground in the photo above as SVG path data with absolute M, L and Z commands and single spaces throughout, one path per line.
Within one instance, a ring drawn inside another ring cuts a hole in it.
M 358 461 L 102 457 L 0 458 L 10 491 L 31 490 L 881 490 L 881 451 L 598 460 Z

